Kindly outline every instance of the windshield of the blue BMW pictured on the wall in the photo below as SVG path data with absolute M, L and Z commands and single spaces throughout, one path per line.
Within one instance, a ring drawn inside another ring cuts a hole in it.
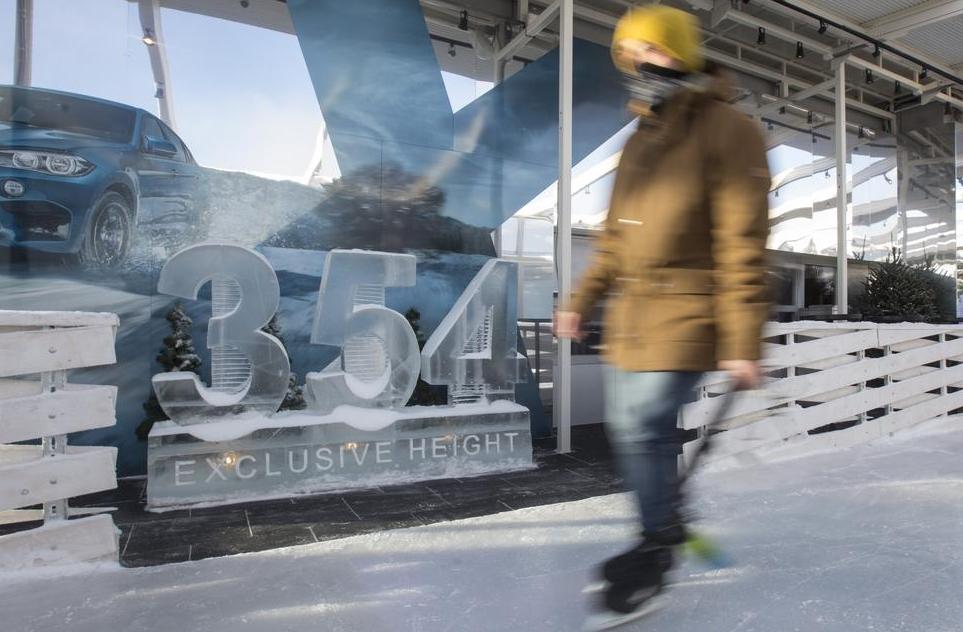
M 135 113 L 121 106 L 42 90 L 0 86 L 0 123 L 29 125 L 126 143 Z

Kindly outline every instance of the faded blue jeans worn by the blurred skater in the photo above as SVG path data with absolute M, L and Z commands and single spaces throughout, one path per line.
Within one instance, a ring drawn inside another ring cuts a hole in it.
M 679 409 L 695 398 L 701 373 L 628 372 L 610 368 L 606 424 L 625 484 L 635 492 L 643 532 L 677 523 L 681 504 L 678 457 L 684 431 Z

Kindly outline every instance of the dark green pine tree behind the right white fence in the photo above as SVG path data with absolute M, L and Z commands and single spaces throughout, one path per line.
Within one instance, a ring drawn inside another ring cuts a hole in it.
M 908 264 L 899 249 L 893 248 L 886 261 L 870 265 L 863 282 L 863 316 L 882 322 L 938 320 L 939 276 L 931 261 Z

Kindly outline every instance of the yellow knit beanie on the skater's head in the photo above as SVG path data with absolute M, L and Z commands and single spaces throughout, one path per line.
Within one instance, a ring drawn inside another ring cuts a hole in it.
M 658 46 L 667 55 L 681 61 L 689 72 L 702 70 L 699 22 L 695 16 L 662 5 L 632 9 L 615 26 L 612 56 L 616 66 L 616 46 L 622 40 L 638 40 Z M 629 70 L 629 69 L 624 69 Z

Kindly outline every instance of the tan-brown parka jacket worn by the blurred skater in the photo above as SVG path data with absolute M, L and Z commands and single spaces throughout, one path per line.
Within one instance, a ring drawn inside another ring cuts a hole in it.
M 767 316 L 762 131 L 721 79 L 675 93 L 626 144 L 605 228 L 570 311 L 608 295 L 605 355 L 626 371 L 756 360 Z

